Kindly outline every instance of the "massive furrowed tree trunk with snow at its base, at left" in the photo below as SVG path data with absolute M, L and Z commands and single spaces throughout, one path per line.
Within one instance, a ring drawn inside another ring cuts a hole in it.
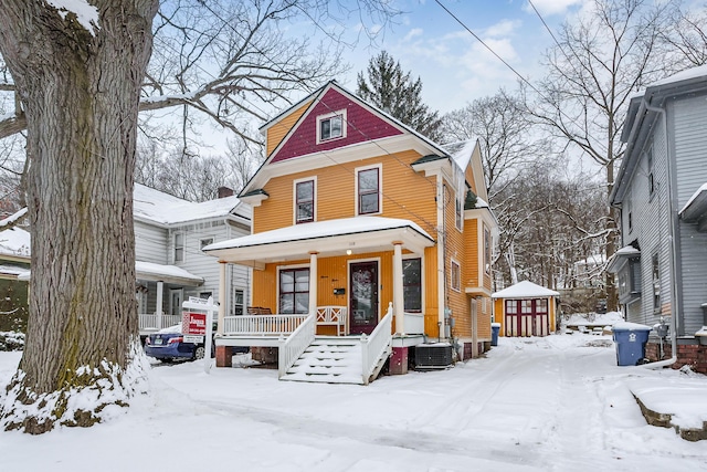
M 42 1 L 0 8 L 0 52 L 28 119 L 32 229 L 27 345 L 2 418 L 32 433 L 99 421 L 141 368 L 133 172 L 158 1 L 92 3 L 93 32 Z M 93 405 L 73 409 L 71 395 Z

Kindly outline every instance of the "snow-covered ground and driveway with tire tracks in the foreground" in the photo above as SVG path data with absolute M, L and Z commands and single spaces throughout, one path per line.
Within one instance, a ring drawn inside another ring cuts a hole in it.
M 0 386 L 19 359 L 0 353 Z M 707 442 L 646 424 L 631 394 L 696 423 L 707 377 L 618 367 L 606 336 L 502 337 L 485 358 L 368 387 L 201 361 L 150 375 L 106 423 L 0 432 L 0 471 L 707 471 Z

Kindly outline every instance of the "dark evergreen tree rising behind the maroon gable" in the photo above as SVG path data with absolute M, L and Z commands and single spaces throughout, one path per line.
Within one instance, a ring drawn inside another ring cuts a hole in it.
M 368 81 L 363 72 L 358 73 L 356 93 L 378 106 L 418 133 L 439 140 L 440 119 L 437 112 L 422 103 L 422 81 L 413 81 L 410 72 L 403 73 L 400 62 L 381 51 L 368 63 Z

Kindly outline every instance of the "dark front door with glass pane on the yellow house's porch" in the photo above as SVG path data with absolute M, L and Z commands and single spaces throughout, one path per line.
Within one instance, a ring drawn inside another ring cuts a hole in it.
M 371 334 L 378 324 L 378 262 L 357 262 L 349 268 L 351 334 Z

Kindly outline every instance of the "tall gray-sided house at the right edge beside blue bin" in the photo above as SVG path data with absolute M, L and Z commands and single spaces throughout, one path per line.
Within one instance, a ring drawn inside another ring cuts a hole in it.
M 619 303 L 629 322 L 671 327 L 663 344 L 652 333 L 651 360 L 671 358 L 671 340 L 675 367 L 707 374 L 707 66 L 634 96 L 622 140 L 610 196 L 621 210 L 622 248 L 609 261 Z

